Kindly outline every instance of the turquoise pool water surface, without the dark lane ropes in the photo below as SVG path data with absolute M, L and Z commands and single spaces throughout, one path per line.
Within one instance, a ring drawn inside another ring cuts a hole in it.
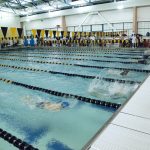
M 32 54 L 33 52 L 37 53 L 41 51 L 43 51 L 43 54 Z M 55 58 L 43 59 L 34 57 L 8 56 L 8 54 L 26 54 L 26 56 L 93 59 L 90 56 L 74 56 L 73 54 L 78 54 L 78 52 L 72 52 L 72 56 L 61 56 L 59 54 L 67 54 L 67 52 L 51 53 L 50 51 L 44 51 L 41 49 L 35 51 L 29 49 L 18 52 L 11 51 L 3 53 L 5 56 L 0 56 L 0 58 L 55 61 L 91 66 L 110 66 L 111 68 L 82 68 L 79 66 L 42 64 L 0 59 L 0 64 L 5 65 L 95 76 L 94 79 L 87 79 L 76 76 L 19 70 L 1 66 L 0 78 L 37 86 L 40 88 L 50 89 L 53 91 L 74 94 L 123 105 L 140 84 L 119 83 L 117 81 L 109 82 L 103 80 L 103 78 L 108 77 L 113 79 L 138 81 L 142 83 L 148 76 L 148 73 L 135 71 L 129 71 L 126 76 L 122 76 L 120 75 L 122 72 L 121 70 L 114 69 L 116 66 L 120 68 L 149 69 L 149 65 L 144 64 L 123 64 L 118 62 L 107 63 L 92 62 L 88 60 L 57 60 Z M 56 55 L 51 55 L 54 53 Z M 118 53 L 123 54 L 123 52 Z M 92 52 L 88 52 L 88 54 L 90 55 Z M 104 54 L 99 51 L 99 54 L 96 55 Z M 116 56 L 116 54 L 107 55 Z M 140 57 L 140 55 L 141 54 L 139 53 L 138 56 Z M 136 57 L 138 56 L 136 55 Z M 122 60 L 121 58 L 99 57 L 96 59 L 134 61 L 133 58 Z M 51 105 L 49 106 L 46 104 Z M 112 117 L 114 112 L 114 109 L 82 102 L 74 98 L 58 97 L 0 81 L 0 128 L 28 142 L 40 150 L 82 149 L 82 147 Z M 0 143 L 0 149 L 16 149 L 14 146 L 8 144 L 2 139 L 0 139 Z

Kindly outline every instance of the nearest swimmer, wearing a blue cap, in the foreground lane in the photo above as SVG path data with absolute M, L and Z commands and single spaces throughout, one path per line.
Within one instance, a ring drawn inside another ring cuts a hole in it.
M 51 103 L 48 101 L 43 102 L 35 102 L 30 96 L 27 96 L 24 99 L 24 102 L 31 106 L 40 108 L 40 109 L 46 109 L 46 110 L 54 110 L 54 111 L 60 111 L 62 108 L 66 108 L 69 106 L 68 102 L 62 102 L 62 103 Z

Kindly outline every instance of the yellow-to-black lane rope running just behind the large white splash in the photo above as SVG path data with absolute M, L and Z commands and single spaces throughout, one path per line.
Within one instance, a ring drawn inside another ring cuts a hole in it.
M 5 65 L 5 64 L 0 64 L 0 67 L 12 68 L 12 69 L 18 69 L 18 70 L 26 70 L 26 71 L 34 71 L 34 72 L 45 72 L 45 73 L 50 73 L 50 74 L 60 74 L 60 75 L 65 75 L 65 76 L 81 77 L 81 78 L 87 78 L 87 79 L 101 79 L 101 80 L 105 80 L 108 82 L 119 82 L 119 83 L 129 83 L 129 84 L 135 84 L 135 83 L 140 84 L 141 83 L 139 81 L 113 79 L 113 78 L 105 78 L 105 77 L 98 77 L 98 76 L 73 74 L 73 73 L 71 74 L 71 73 L 65 73 L 65 72 L 57 72 L 57 71 L 43 70 L 43 69 L 41 70 L 41 69 L 37 69 L 37 68 L 19 67 L 19 66 Z

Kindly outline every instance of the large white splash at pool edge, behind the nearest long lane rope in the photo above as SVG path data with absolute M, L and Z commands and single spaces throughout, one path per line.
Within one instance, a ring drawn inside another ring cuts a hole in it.
M 98 98 L 128 98 L 136 90 L 138 84 L 128 85 L 118 82 L 110 83 L 102 79 L 95 78 L 89 86 L 88 92 Z

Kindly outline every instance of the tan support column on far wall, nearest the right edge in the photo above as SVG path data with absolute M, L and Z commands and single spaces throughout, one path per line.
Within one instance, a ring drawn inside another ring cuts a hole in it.
M 133 8 L 133 28 L 134 33 L 138 33 L 138 23 L 137 23 L 137 7 Z

